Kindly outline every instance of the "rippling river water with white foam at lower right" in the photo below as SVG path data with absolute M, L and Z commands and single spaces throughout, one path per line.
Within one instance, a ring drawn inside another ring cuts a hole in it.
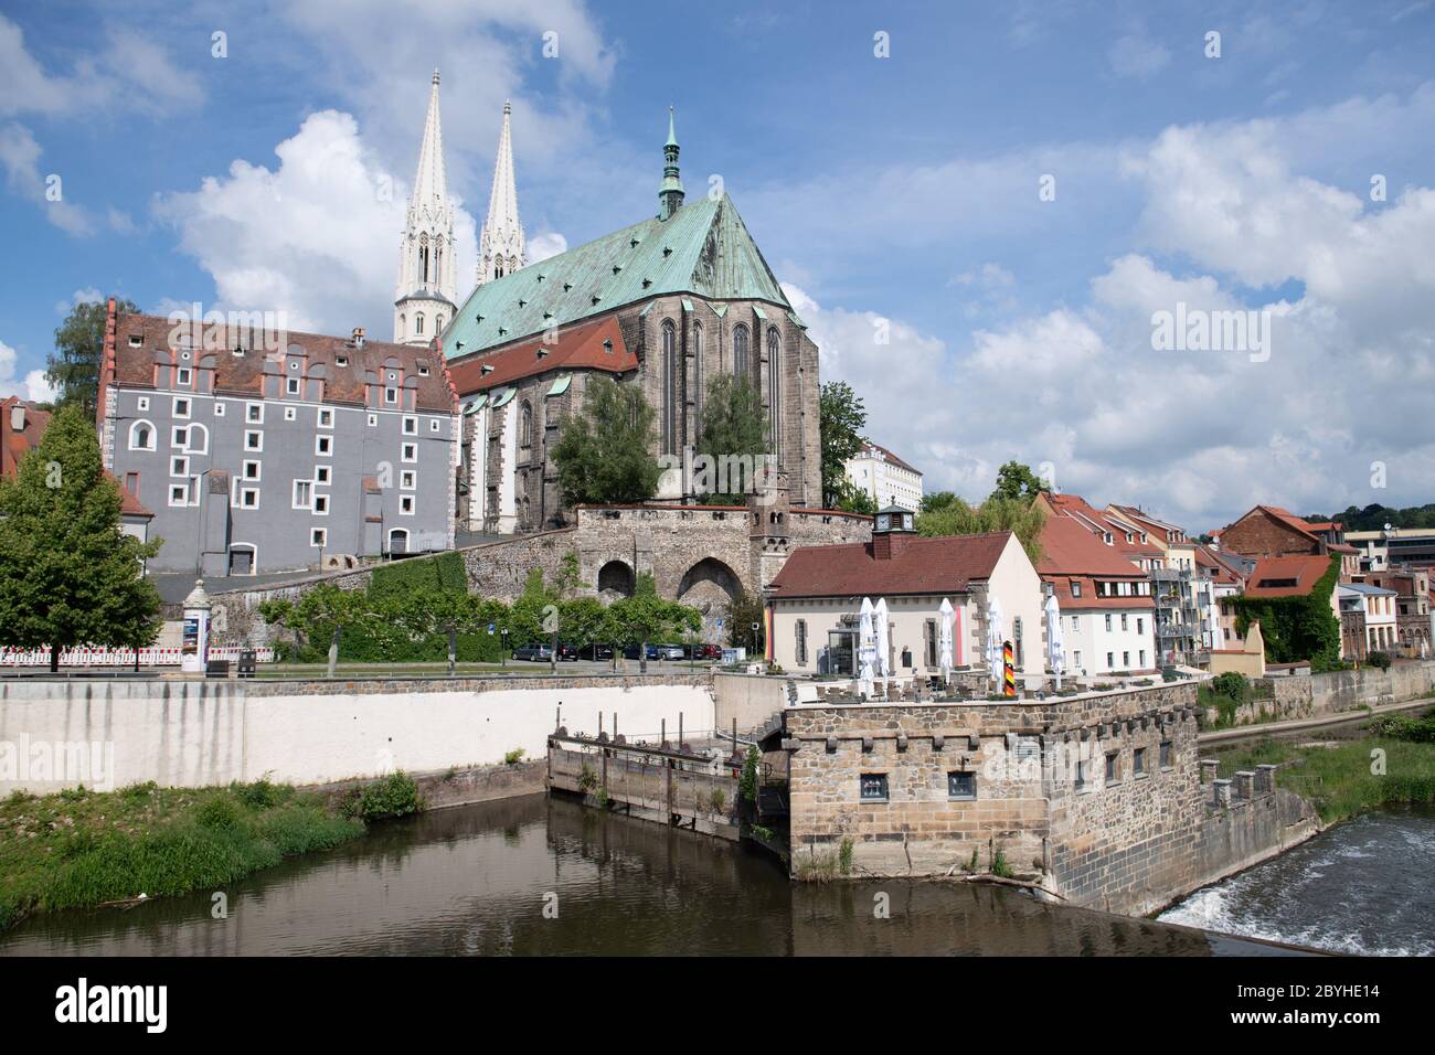
M 1363 814 L 1162 920 L 1368 956 L 1435 956 L 1435 808 Z

